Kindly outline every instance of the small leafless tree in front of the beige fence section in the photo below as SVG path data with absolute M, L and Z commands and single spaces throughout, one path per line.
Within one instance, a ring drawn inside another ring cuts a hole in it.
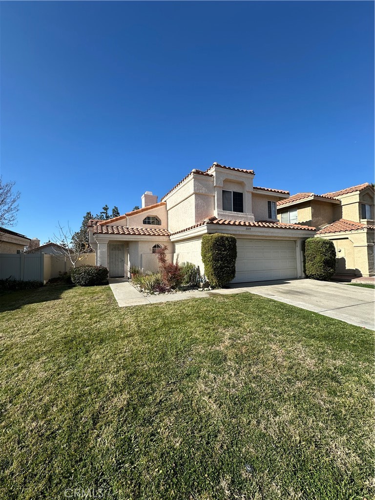
M 68 258 L 71 265 L 75 267 L 78 260 L 91 251 L 91 247 L 84 239 L 83 235 L 79 235 L 79 233 L 72 231 L 69 222 L 67 223 L 67 227 L 62 226 L 60 222 L 57 222 L 57 224 L 58 231 L 57 233 L 53 233 L 53 237 L 50 238 L 50 242 L 53 243 L 53 252 L 55 255 L 61 255 Z M 80 240 L 78 241 L 77 238 Z M 74 239 L 74 249 L 72 248 L 72 239 Z

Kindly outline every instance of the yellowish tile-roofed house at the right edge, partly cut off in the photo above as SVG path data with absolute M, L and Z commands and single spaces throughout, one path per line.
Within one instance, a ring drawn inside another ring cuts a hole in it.
M 313 225 L 331 239 L 336 273 L 374 275 L 374 188 L 365 182 L 340 191 L 299 192 L 277 202 L 280 222 Z

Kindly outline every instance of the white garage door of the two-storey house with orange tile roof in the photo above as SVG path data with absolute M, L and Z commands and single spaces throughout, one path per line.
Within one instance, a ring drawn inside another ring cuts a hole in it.
M 233 283 L 297 277 L 294 241 L 237 239 Z

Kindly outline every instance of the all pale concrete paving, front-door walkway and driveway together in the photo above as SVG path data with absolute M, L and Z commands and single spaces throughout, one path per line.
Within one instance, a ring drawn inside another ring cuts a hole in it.
M 357 326 L 374 329 L 375 323 L 375 290 L 344 283 L 313 279 L 257 281 L 232 284 L 220 290 L 191 290 L 148 297 L 144 297 L 126 279 L 109 279 L 109 286 L 120 307 L 250 292 Z

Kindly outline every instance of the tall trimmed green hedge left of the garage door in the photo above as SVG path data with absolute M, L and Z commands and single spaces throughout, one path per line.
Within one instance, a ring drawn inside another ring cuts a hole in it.
M 213 286 L 221 287 L 235 276 L 237 241 L 230 234 L 204 234 L 201 247 L 204 274 Z

